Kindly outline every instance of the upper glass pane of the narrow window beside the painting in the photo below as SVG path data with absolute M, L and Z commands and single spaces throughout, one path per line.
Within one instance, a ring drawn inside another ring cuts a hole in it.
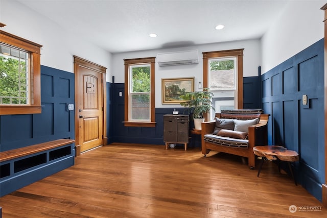
M 131 92 L 150 92 L 150 65 L 131 67 Z

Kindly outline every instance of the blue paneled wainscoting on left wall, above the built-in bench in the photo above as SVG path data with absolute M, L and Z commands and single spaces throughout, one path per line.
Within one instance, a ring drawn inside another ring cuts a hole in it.
M 1 115 L 0 151 L 59 138 L 75 138 L 74 74 L 41 66 L 41 114 Z

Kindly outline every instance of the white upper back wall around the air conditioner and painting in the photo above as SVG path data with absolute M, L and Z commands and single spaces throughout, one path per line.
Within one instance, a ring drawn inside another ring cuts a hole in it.
M 156 57 L 158 53 L 176 52 L 187 50 L 199 50 L 198 64 L 185 64 L 175 66 L 159 66 L 155 64 L 155 107 L 174 107 L 174 105 L 163 105 L 161 103 L 161 79 L 195 77 L 195 89 L 198 83 L 203 84 L 203 56 L 202 52 L 213 52 L 232 49 L 244 49 L 243 56 L 243 76 L 258 76 L 258 67 L 261 62 L 260 40 L 244 40 L 224 43 L 213 43 L 180 47 L 174 49 L 149 50 L 139 52 L 118 53 L 112 56 L 112 75 L 115 83 L 124 83 L 124 59 Z M 176 104 L 175 107 L 180 106 Z

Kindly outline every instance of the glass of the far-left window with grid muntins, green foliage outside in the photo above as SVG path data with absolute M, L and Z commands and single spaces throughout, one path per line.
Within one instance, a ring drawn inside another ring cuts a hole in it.
M 28 53 L 0 44 L 0 104 L 29 104 Z

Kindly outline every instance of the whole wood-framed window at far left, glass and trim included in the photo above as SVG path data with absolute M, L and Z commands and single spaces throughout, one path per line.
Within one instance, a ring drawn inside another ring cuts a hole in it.
M 0 115 L 41 113 L 41 47 L 0 31 Z

